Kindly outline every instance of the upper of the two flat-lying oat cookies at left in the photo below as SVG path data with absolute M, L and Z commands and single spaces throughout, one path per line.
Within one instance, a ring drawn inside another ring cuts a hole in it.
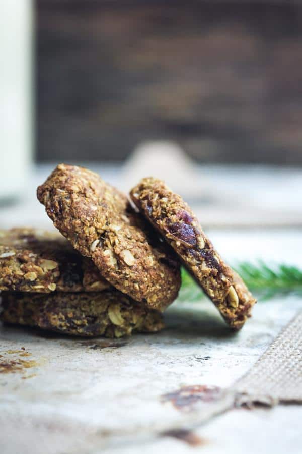
M 0 290 L 99 292 L 110 284 L 58 233 L 0 230 Z

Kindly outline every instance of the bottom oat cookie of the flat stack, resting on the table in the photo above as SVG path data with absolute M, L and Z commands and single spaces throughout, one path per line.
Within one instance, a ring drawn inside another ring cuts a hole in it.
M 160 312 L 113 289 L 47 295 L 2 292 L 1 297 L 3 322 L 64 334 L 121 337 L 135 331 L 155 332 L 164 327 Z

